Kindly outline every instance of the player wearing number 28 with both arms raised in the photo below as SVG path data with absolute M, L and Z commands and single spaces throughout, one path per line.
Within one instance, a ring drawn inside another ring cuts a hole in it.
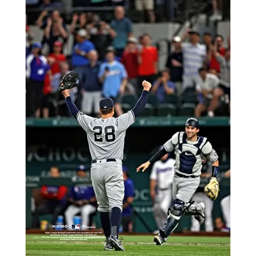
M 136 106 L 124 115 L 114 118 L 113 100 L 104 98 L 99 102 L 101 118 L 93 118 L 79 111 L 69 96 L 69 89 L 76 86 L 78 75 L 72 71 L 63 77 L 60 90 L 63 93 L 70 113 L 86 131 L 92 156 L 91 177 L 93 189 L 99 204 L 100 222 L 106 236 L 104 250 L 124 251 L 118 230 L 120 228 L 123 200 L 124 177 L 122 159 L 124 155 L 125 132 L 143 111 L 147 103 L 151 84 L 143 81 L 143 92 Z M 109 212 L 111 216 L 109 218 Z

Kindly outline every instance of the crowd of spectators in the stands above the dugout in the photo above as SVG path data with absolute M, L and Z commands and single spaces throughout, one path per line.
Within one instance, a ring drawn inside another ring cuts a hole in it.
M 102 97 L 111 97 L 116 116 L 122 115 L 134 107 L 143 80 L 152 83 L 143 116 L 229 115 L 230 37 L 225 49 L 223 36 L 200 35 L 188 29 L 183 36 L 172 38 L 166 68 L 159 70 L 159 52 L 151 36 L 144 33 L 134 37 L 132 21 L 125 16 L 123 6 L 115 7 L 109 24 L 92 12 L 74 13 L 67 28 L 60 14 L 61 4 L 43 2 L 36 20 L 44 32 L 41 42 L 33 42 L 26 24 L 27 117 L 70 116 L 58 91 L 62 77 L 70 70 L 79 74 L 72 100 L 88 115 L 99 116 Z M 220 17 L 218 1 L 212 2 L 213 15 Z M 55 8 L 51 13 L 46 8 L 49 5 Z M 154 15 L 148 14 L 154 20 Z M 71 56 L 65 56 L 63 47 L 70 35 L 74 35 L 73 50 Z M 47 54 L 42 54 L 44 45 Z

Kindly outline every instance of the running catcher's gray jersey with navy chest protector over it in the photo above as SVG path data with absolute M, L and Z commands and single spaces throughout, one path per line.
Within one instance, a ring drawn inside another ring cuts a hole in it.
M 212 163 L 218 160 L 216 151 L 207 138 L 198 137 L 196 141 L 186 140 L 185 132 L 177 132 L 164 143 L 167 152 L 175 153 L 174 170 L 182 175 L 199 176 L 202 170 L 202 161 L 208 159 Z

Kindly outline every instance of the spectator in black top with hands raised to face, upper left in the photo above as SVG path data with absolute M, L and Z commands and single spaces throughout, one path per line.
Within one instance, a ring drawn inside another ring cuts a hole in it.
M 49 47 L 49 53 L 53 52 L 54 42 L 60 41 L 65 45 L 67 43 L 68 33 L 60 12 L 55 10 L 52 17 L 47 19 L 47 25 L 44 30 L 44 39 L 42 44 L 46 43 Z

